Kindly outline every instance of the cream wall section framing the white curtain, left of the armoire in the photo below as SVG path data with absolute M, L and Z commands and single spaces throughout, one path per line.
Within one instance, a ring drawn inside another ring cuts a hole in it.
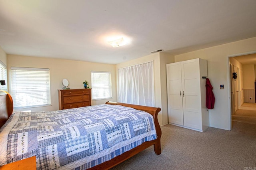
M 174 61 L 174 56 L 172 57 L 171 55 L 168 55 L 168 54 L 160 55 L 160 53 L 153 53 L 151 55 L 140 57 L 138 59 L 117 64 L 116 70 L 122 67 L 128 67 L 128 66 L 132 66 L 140 63 L 145 63 L 148 61 L 153 61 L 153 64 L 154 64 L 155 107 L 161 108 L 161 111 L 158 114 L 158 122 L 160 125 L 166 125 L 168 124 L 168 113 L 167 113 L 167 103 L 166 103 L 167 102 L 166 64 Z M 165 83 L 163 79 L 165 79 Z

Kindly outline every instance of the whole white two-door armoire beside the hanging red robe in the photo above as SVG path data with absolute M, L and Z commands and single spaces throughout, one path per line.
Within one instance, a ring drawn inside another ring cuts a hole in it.
M 209 127 L 207 61 L 197 58 L 170 63 L 166 71 L 169 123 L 203 132 Z

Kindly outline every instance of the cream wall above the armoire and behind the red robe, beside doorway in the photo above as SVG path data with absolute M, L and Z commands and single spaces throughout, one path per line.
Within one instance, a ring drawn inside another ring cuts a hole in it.
M 209 111 L 210 127 L 231 129 L 228 57 L 245 55 L 250 51 L 256 51 L 256 37 L 175 56 L 175 62 L 194 58 L 207 60 L 208 78 L 211 81 L 215 95 L 214 109 Z M 220 89 L 220 85 L 224 85 L 225 89 Z

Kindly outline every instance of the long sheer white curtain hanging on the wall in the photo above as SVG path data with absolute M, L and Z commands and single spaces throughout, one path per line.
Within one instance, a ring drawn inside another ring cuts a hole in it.
M 118 69 L 118 101 L 154 107 L 153 61 Z

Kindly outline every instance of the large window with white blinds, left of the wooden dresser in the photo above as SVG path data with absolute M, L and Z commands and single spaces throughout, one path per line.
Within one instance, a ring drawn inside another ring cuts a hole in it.
M 49 69 L 11 67 L 14 109 L 50 105 Z

